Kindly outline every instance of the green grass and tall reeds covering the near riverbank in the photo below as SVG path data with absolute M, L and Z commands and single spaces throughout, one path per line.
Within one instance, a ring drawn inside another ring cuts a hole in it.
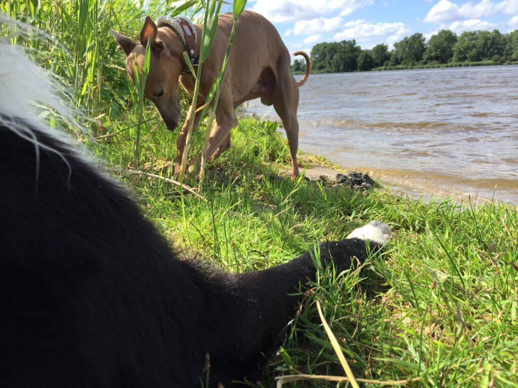
M 472 207 L 450 200 L 426 204 L 387 190 L 365 197 L 304 179 L 292 182 L 280 174 L 290 157 L 276 124 L 253 118 L 241 119 L 232 148 L 209 162 L 202 182 L 206 201 L 181 197 L 164 181 L 125 172 L 137 164 L 139 120 L 140 171 L 167 176 L 176 154 L 177 133 L 160 124 L 154 107 L 145 102 L 142 115 L 137 114 L 124 55 L 109 34 L 114 28 L 135 37 L 147 11 L 130 0 L 33 4 L 15 0 L 0 7 L 59 37 L 62 47 L 37 37 L 18 43 L 68 80 L 77 106 L 90 119 L 81 140 L 135 192 L 143 212 L 174 240 L 181 257 L 203 258 L 234 273 L 260 270 L 321 241 L 343 238 L 368 220 L 391 223 L 389 249 L 372 258 L 362 273 L 319 277 L 286 344 L 268 363 L 264 386 L 275 386 L 274 378 L 284 374 L 343 376 L 316 314 L 316 300 L 356 377 L 417 377 L 413 386 L 430 387 L 518 386 L 515 207 Z M 159 1 L 149 9 L 152 17 L 167 11 Z M 7 33 L 4 26 L 1 31 Z M 188 104 L 184 98 L 184 112 Z M 193 135 L 191 157 L 204 143 L 204 124 Z

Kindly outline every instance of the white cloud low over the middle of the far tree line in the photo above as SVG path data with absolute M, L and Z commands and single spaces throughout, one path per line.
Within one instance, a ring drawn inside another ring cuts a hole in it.
M 392 43 L 393 41 L 401 39 L 409 32 L 410 28 L 401 22 L 377 24 L 363 23 L 351 28 L 344 29 L 342 32 L 335 34 L 334 38 L 335 40 L 356 39 L 356 41 L 358 41 L 389 36 L 388 39 L 390 39 L 390 41 L 387 40 L 387 43 Z

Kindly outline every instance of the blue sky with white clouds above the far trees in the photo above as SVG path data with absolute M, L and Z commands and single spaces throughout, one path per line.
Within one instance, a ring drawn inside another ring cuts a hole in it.
M 393 44 L 443 28 L 464 31 L 518 28 L 518 0 L 248 0 L 278 29 L 288 50 L 310 53 L 314 44 L 355 39 L 362 49 Z

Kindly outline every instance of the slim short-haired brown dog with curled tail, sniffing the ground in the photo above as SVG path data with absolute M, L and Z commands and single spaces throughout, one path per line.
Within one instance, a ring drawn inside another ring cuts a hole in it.
M 218 31 L 212 49 L 203 64 L 197 108 L 202 106 L 215 78 L 218 77 L 225 56 L 228 37 L 232 29 L 232 13 L 220 16 Z M 195 25 L 194 35 L 202 36 L 203 25 Z M 193 32 L 193 31 L 191 31 Z M 135 81 L 135 61 L 142 69 L 146 44 L 151 41 L 151 63 L 146 83 L 145 97 L 153 101 L 168 129 L 173 130 L 181 117 L 178 81 L 192 96 L 195 79 L 185 71 L 183 52 L 186 44 L 178 31 L 169 25 L 157 27 L 147 18 L 140 33 L 140 42 L 134 42 L 116 31 L 112 34 L 126 53 L 126 68 L 130 78 Z M 189 34 L 189 33 L 188 33 Z M 200 38 L 194 43 L 194 51 L 199 53 Z M 309 76 L 310 60 L 306 53 L 295 52 L 306 59 L 306 74 L 295 81 L 290 72 L 290 54 L 277 29 L 260 14 L 244 11 L 236 26 L 236 37 L 232 46 L 221 94 L 215 111 L 216 122 L 210 133 L 207 155 L 217 157 L 230 147 L 230 131 L 237 123 L 235 109 L 243 102 L 261 97 L 264 105 L 273 105 L 280 116 L 292 160 L 292 178 L 298 176 L 298 88 L 304 85 Z M 194 126 L 200 120 L 195 114 Z M 177 138 L 178 163 L 181 162 L 185 137 L 189 128 L 187 117 Z M 200 155 L 194 162 L 200 166 Z M 192 168 L 192 165 L 191 165 Z

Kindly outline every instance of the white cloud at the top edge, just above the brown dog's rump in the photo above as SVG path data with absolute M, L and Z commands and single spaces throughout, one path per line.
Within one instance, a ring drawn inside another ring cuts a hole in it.
M 314 19 L 331 13 L 344 16 L 372 4 L 374 0 L 256 0 L 252 10 L 277 23 Z

